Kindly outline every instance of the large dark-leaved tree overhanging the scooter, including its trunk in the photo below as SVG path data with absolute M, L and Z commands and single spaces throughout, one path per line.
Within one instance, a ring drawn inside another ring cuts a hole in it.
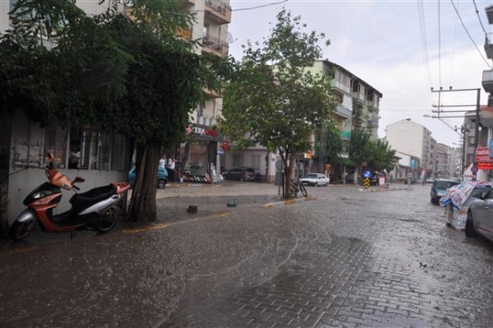
M 14 28 L 0 44 L 9 59 L 0 64 L 0 81 L 8 84 L 2 108 L 22 108 L 41 124 L 96 123 L 135 140 L 138 175 L 129 215 L 152 221 L 160 148 L 185 138 L 203 87 L 219 89 L 214 69 L 221 63 L 177 37 L 194 20 L 179 2 L 110 3 L 90 18 L 75 1 L 20 0 Z M 119 3 L 131 6 L 131 18 L 115 10 Z M 40 36 L 57 43 L 47 49 Z

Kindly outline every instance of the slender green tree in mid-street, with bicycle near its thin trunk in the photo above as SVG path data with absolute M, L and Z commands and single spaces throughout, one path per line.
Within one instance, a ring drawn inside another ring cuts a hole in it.
M 221 131 L 238 147 L 260 144 L 280 154 L 288 196 L 295 157 L 312 148 L 310 136 L 335 107 L 328 81 L 308 69 L 321 56 L 317 44 L 324 36 L 302 32 L 305 27 L 299 17 L 282 10 L 261 46 L 243 46 L 219 120 Z

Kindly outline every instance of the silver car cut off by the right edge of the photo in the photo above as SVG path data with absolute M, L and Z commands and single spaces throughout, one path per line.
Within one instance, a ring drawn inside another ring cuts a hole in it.
M 493 189 L 473 190 L 473 203 L 469 204 L 465 220 L 465 236 L 484 236 L 493 242 Z

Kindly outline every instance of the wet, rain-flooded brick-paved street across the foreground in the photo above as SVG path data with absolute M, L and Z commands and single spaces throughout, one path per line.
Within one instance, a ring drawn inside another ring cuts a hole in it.
M 152 226 L 3 236 L 0 327 L 493 327 L 493 243 L 403 187 L 170 186 Z

